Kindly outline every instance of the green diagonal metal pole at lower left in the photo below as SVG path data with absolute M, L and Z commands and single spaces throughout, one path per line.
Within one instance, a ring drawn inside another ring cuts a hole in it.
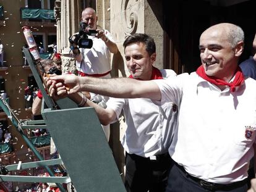
M 4 102 L 2 101 L 2 98 L 0 99 L 0 106 L 2 107 L 2 110 L 6 113 L 6 115 L 9 117 L 9 119 L 11 120 L 12 124 L 15 126 L 15 128 L 19 131 L 20 135 L 22 136 L 22 138 L 25 140 L 25 142 L 27 143 L 28 147 L 33 151 L 33 153 L 35 154 L 35 156 L 40 160 L 40 161 L 44 161 L 45 159 L 43 159 L 43 157 L 41 156 L 41 154 L 36 150 L 35 146 L 31 143 L 31 141 L 27 138 L 27 136 L 23 133 L 23 130 L 21 127 L 19 127 L 19 122 L 17 122 L 16 119 L 14 118 L 10 118 L 11 116 L 11 112 L 9 111 L 9 109 L 6 107 L 6 104 L 4 104 Z M 49 173 L 49 175 L 51 177 L 54 177 L 54 173 L 51 169 L 49 169 L 48 166 L 44 166 L 45 169 L 47 170 L 47 172 Z M 58 186 L 58 188 L 64 192 L 66 191 L 63 186 L 59 183 L 56 183 L 56 185 Z

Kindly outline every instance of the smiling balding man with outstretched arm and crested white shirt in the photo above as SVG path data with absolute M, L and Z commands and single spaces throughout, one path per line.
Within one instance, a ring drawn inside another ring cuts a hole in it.
M 256 81 L 238 67 L 244 31 L 231 23 L 213 25 L 200 36 L 199 49 L 202 65 L 197 72 L 170 80 L 51 80 L 66 83 L 69 94 L 93 91 L 174 102 L 179 125 L 176 143 L 169 148 L 174 166 L 167 191 L 246 191 L 256 136 Z

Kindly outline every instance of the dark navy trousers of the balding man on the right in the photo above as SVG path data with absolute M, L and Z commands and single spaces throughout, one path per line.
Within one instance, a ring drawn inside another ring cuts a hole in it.
M 225 187 L 225 186 L 224 186 Z M 168 177 L 168 186 L 166 188 L 166 192 L 205 192 L 205 191 L 215 191 L 215 192 L 246 192 L 247 191 L 247 183 L 242 182 L 242 184 L 238 184 L 237 186 L 227 187 L 222 190 L 207 190 L 200 186 L 199 182 L 196 182 L 194 179 L 189 177 L 188 173 L 182 170 L 179 165 L 173 164 L 170 169 L 169 177 Z

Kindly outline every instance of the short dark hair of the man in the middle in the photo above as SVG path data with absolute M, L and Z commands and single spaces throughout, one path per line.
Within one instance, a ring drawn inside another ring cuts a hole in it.
M 124 49 L 126 49 L 126 47 L 129 44 L 132 43 L 143 43 L 146 46 L 146 51 L 148 52 L 148 54 L 151 56 L 151 54 L 153 54 L 154 52 L 156 52 L 156 44 L 155 41 L 153 40 L 153 38 L 151 38 L 151 36 L 148 36 L 147 34 L 143 34 L 143 33 L 134 33 L 130 36 L 128 36 L 126 38 L 126 40 L 124 41 L 124 43 L 122 44 L 122 46 L 124 46 Z

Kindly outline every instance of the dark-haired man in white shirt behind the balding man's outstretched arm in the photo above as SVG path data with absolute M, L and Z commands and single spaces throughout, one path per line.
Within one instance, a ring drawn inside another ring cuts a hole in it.
M 123 45 L 129 78 L 143 81 L 176 76 L 173 70 L 158 70 L 153 67 L 156 47 L 150 36 L 136 33 L 128 36 Z M 114 87 L 111 89 L 115 90 Z M 52 90 L 49 88 L 53 95 Z M 82 106 L 95 107 L 103 125 L 117 121 L 123 110 L 127 123 L 127 130 L 122 138 L 122 146 L 126 150 L 127 191 L 165 191 L 171 167 L 168 148 L 173 141 L 177 123 L 177 107 L 173 102 L 157 106 L 150 99 L 110 98 L 107 108 L 103 109 L 93 105 L 91 101 L 85 104 L 83 96 L 76 98 L 72 94 L 69 98 L 82 103 Z

